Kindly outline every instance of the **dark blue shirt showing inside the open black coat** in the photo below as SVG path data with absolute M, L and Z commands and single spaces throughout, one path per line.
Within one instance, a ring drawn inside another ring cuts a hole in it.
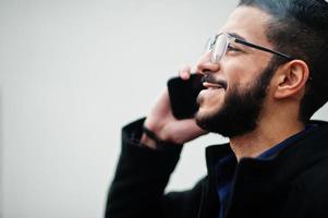
M 306 134 L 311 130 L 316 128 L 316 125 L 308 125 L 305 130 L 296 133 L 295 135 L 284 140 L 283 142 L 279 143 L 278 145 L 269 148 L 268 150 L 264 152 L 256 159 L 268 159 L 275 155 L 278 155 L 280 150 L 284 147 L 293 144 L 296 140 L 299 140 L 302 135 Z M 229 199 L 229 194 L 231 191 L 232 179 L 234 174 L 235 168 L 235 156 L 233 154 L 221 158 L 216 165 L 216 172 L 217 172 L 217 193 L 220 201 L 220 211 L 218 218 L 223 218 L 224 209 L 227 207 L 227 203 Z

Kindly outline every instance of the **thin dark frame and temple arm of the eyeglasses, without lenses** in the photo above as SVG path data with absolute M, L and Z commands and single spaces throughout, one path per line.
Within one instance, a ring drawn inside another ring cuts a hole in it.
M 258 49 L 258 50 L 262 50 L 262 51 L 266 51 L 266 52 L 269 52 L 269 53 L 274 53 L 274 55 L 280 56 L 280 57 L 282 57 L 282 58 L 286 58 L 286 59 L 288 59 L 289 61 L 292 61 L 292 60 L 295 59 L 295 58 L 293 58 L 293 57 L 291 57 L 291 56 L 289 56 L 289 55 L 286 55 L 286 53 L 283 53 L 283 52 L 276 51 L 276 50 L 272 50 L 272 49 L 269 49 L 269 48 L 265 48 L 265 47 L 263 47 L 263 46 L 258 46 L 258 45 L 255 45 L 255 44 L 245 41 L 245 40 L 243 40 L 243 39 L 233 37 L 233 36 L 231 36 L 231 35 L 228 34 L 228 33 L 220 33 L 220 34 L 217 34 L 217 35 L 212 36 L 211 38 L 214 38 L 214 41 L 209 45 L 209 48 L 207 49 L 207 51 L 212 52 L 214 46 L 215 46 L 215 44 L 216 44 L 216 41 L 217 41 L 217 38 L 218 38 L 220 35 L 224 35 L 224 36 L 227 37 L 226 48 L 224 48 L 224 51 L 223 51 L 221 58 L 227 53 L 227 49 L 228 49 L 229 44 L 230 44 L 229 39 L 230 39 L 230 40 L 232 39 L 232 40 L 233 40 L 234 43 L 236 43 L 236 44 L 242 44 L 242 45 L 248 46 L 248 47 L 251 47 L 251 48 L 255 48 L 255 49 Z M 208 43 L 209 43 L 209 40 L 210 40 L 210 38 L 208 39 Z M 208 43 L 207 43 L 207 44 L 208 44 Z M 211 62 L 214 62 L 214 63 L 219 62 L 219 61 L 221 60 L 221 58 L 220 58 L 219 60 L 216 60 L 216 57 L 215 57 L 214 55 L 215 55 L 215 53 L 211 53 Z

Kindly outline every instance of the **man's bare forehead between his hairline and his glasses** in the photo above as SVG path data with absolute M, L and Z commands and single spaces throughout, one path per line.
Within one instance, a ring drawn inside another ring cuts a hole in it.
M 269 14 L 257 8 L 238 7 L 220 32 L 236 34 L 247 41 L 263 46 L 270 45 L 265 35 L 269 19 Z

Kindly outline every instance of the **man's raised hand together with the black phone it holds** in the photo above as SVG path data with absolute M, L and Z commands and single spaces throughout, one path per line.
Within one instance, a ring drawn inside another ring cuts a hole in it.
M 193 119 L 198 108 L 196 98 L 203 88 L 201 78 L 201 75 L 192 75 L 190 80 L 171 78 L 168 82 L 168 88 L 163 90 L 150 109 L 144 126 L 154 132 L 161 141 L 175 144 L 190 142 L 207 133 Z M 147 145 L 146 137 L 143 138 L 142 143 Z

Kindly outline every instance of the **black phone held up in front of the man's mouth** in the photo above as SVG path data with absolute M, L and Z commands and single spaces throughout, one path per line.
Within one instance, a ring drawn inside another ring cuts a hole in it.
M 172 77 L 168 81 L 168 89 L 172 113 L 177 119 L 193 118 L 198 110 L 197 96 L 204 86 L 201 74 L 192 74 L 186 81 Z

